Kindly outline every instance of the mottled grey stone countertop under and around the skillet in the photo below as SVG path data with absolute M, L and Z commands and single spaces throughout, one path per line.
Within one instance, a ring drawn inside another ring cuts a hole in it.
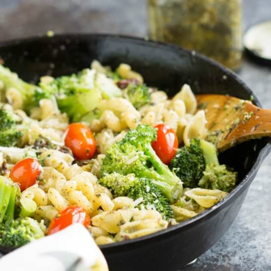
M 271 0 L 243 0 L 244 28 L 271 19 Z M 55 33 L 146 36 L 145 0 L 0 0 L 0 40 Z M 271 67 L 248 60 L 240 77 L 271 108 Z M 183 271 L 271 271 L 271 156 L 229 231 Z

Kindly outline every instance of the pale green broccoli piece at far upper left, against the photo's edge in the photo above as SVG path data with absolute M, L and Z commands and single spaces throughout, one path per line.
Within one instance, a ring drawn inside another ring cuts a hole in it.
M 34 92 L 38 87 L 18 78 L 16 73 L 11 72 L 9 68 L 2 65 L 0 65 L 0 80 L 4 84 L 5 91 L 9 88 L 15 88 L 19 91 L 23 99 L 23 109 L 29 113 L 30 109 L 36 105 Z

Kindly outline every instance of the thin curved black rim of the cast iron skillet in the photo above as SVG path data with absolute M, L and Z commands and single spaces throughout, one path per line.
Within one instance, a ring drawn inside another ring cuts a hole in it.
M 232 77 L 235 81 L 237 81 L 238 84 L 240 84 L 244 90 L 251 95 L 254 100 L 253 102 L 259 106 L 261 106 L 261 103 L 259 102 L 258 98 L 255 96 L 253 91 L 237 76 L 235 72 L 230 70 L 229 68 L 226 68 L 222 66 L 220 63 L 216 62 L 215 60 L 212 60 L 204 55 L 199 54 L 198 52 L 194 50 L 188 50 L 184 49 L 182 47 L 179 47 L 174 44 L 166 43 L 166 42 L 158 42 L 154 41 L 151 39 L 146 39 L 146 38 L 140 38 L 140 37 L 134 37 L 134 36 L 129 36 L 129 35 L 119 35 L 119 34 L 96 34 L 96 33 L 82 33 L 82 34 L 76 34 L 76 33 L 66 33 L 66 34 L 55 34 L 52 37 L 48 37 L 47 35 L 36 35 L 36 36 L 30 36 L 30 37 L 24 37 L 24 38 L 19 38 L 19 39 L 10 39 L 7 41 L 1 41 L 0 42 L 0 49 L 3 47 L 7 46 L 13 46 L 13 45 L 20 45 L 20 44 L 27 44 L 35 41 L 40 41 L 44 40 L 46 41 L 47 39 L 53 39 L 53 40 L 74 40 L 74 39 L 86 39 L 86 38 L 96 38 L 96 39 L 111 39 L 112 41 L 120 41 L 124 40 L 126 42 L 132 42 L 132 43 L 138 43 L 141 44 L 142 46 L 147 46 L 150 47 L 153 46 L 159 46 L 160 50 L 173 50 L 175 52 L 184 52 L 186 54 L 192 55 L 194 58 L 198 58 L 202 60 L 203 62 L 208 63 L 209 65 L 220 69 L 225 73 L 225 75 Z M 262 138 L 261 140 L 264 140 Z M 195 226 L 195 224 L 199 223 L 201 220 L 204 220 L 206 217 L 210 216 L 212 213 L 215 213 L 219 211 L 219 209 L 223 209 L 226 207 L 226 203 L 234 200 L 233 198 L 235 195 L 243 189 L 244 185 L 248 183 L 249 181 L 252 182 L 253 180 L 253 175 L 257 173 L 257 170 L 259 169 L 261 163 L 265 159 L 265 157 L 269 154 L 271 151 L 271 139 L 265 143 L 265 146 L 261 149 L 259 152 L 254 165 L 252 168 L 247 172 L 247 174 L 244 176 L 244 178 L 237 184 L 235 189 L 229 193 L 224 199 L 222 199 L 219 203 L 216 203 L 214 206 L 212 206 L 209 209 L 204 210 L 202 213 L 198 214 L 197 216 L 190 218 L 186 221 L 180 222 L 177 225 L 170 226 L 169 228 L 147 235 L 143 237 L 137 237 L 135 239 L 130 239 L 130 240 L 124 240 L 124 241 L 119 241 L 111 244 L 104 244 L 100 245 L 101 249 L 111 249 L 119 246 L 124 246 L 124 245 L 131 245 L 134 243 L 138 243 L 141 241 L 146 241 L 148 239 L 152 239 L 155 237 L 160 237 L 166 234 L 169 234 L 170 232 L 177 231 L 179 229 L 186 229 L 190 226 Z

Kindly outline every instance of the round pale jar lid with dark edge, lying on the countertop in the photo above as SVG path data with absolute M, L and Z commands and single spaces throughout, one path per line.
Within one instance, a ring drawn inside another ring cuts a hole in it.
M 244 47 L 254 60 L 271 65 L 271 20 L 249 28 L 244 34 Z

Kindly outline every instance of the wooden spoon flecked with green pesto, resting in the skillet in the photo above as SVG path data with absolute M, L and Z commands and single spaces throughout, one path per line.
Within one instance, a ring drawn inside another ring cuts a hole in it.
M 226 95 L 196 95 L 196 99 L 207 119 L 206 140 L 220 152 L 243 141 L 271 136 L 271 110 Z

